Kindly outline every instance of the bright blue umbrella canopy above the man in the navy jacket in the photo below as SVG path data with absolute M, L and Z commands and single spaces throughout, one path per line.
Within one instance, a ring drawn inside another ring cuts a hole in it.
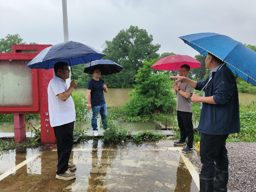
M 179 37 L 202 55 L 210 52 L 226 62 L 233 73 L 256 86 L 256 52 L 226 35 L 197 33 Z

